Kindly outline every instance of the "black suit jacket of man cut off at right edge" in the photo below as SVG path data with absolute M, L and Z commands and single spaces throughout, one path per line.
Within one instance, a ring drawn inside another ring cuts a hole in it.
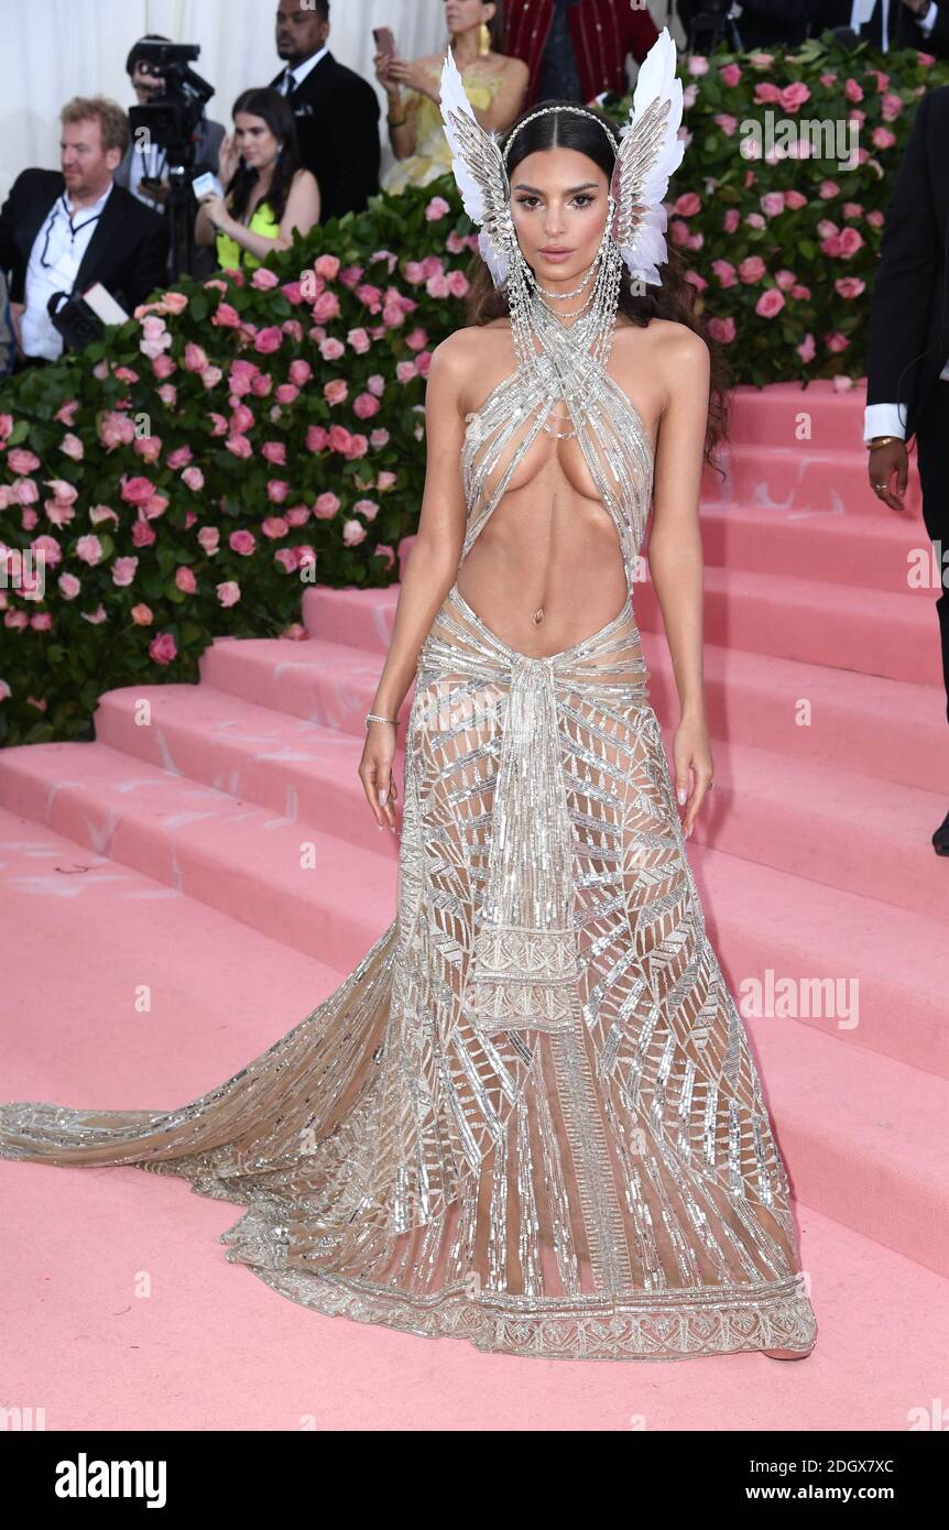
M 949 356 L 949 86 L 920 96 L 894 177 L 869 308 L 868 404 L 906 404 L 906 439 Z

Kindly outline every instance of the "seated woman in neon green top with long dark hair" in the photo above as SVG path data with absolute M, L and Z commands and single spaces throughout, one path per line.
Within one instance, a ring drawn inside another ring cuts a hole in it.
M 254 271 L 274 249 L 289 249 L 295 230 L 320 222 L 320 188 L 300 165 L 292 107 L 269 86 L 234 101 L 234 133 L 220 145 L 223 196 L 202 197 L 199 245 L 217 245 L 225 271 Z

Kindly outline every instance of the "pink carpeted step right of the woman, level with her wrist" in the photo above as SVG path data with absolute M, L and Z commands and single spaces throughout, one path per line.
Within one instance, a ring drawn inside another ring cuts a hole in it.
M 643 632 L 649 699 L 660 719 L 678 725 L 680 701 L 669 646 Z M 834 670 L 744 649 L 704 646 L 706 710 L 715 741 L 920 786 L 947 797 L 949 728 L 940 685 L 856 670 Z M 935 825 L 934 825 L 935 828 Z

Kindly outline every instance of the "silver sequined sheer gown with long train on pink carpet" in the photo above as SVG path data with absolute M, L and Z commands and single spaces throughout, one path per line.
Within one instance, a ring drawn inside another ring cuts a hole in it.
M 565 396 L 569 343 L 545 346 L 470 416 L 464 554 Z M 0 1155 L 136 1164 L 245 1206 L 227 1258 L 320 1313 L 522 1356 L 808 1349 L 785 1169 L 647 701 L 651 441 L 602 367 L 569 407 L 626 604 L 528 658 L 448 592 L 418 661 L 389 929 L 202 1099 L 8 1105 Z

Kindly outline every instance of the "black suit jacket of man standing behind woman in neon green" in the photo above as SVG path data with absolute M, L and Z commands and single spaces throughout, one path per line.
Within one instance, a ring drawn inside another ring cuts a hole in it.
M 380 188 L 381 156 L 380 101 L 369 81 L 324 54 L 288 99 L 300 156 L 320 185 L 320 222 L 364 211 Z

